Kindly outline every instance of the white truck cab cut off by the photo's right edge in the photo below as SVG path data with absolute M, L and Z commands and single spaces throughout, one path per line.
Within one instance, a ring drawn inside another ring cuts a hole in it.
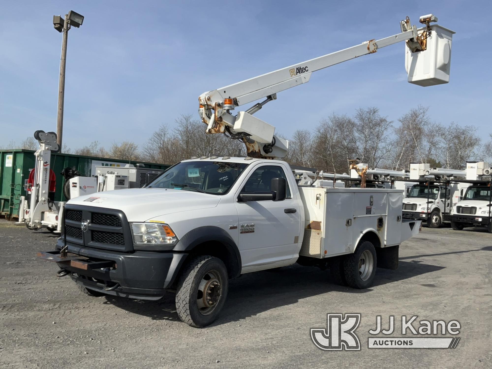
M 464 227 L 482 226 L 487 227 L 489 233 L 492 233 L 491 200 L 490 183 L 475 184 L 466 188 L 464 195 L 452 207 L 447 217 L 453 229 L 461 230 Z

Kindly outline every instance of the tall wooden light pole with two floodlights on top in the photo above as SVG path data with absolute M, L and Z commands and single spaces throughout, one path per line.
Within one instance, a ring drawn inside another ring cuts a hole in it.
M 63 136 L 63 101 L 65 98 L 65 66 L 66 66 L 66 42 L 68 38 L 68 30 L 71 26 L 79 28 L 84 22 L 84 17 L 79 13 L 70 10 L 65 14 L 63 19 L 59 15 L 53 16 L 53 26 L 55 30 L 63 32 L 62 40 L 62 57 L 60 60 L 60 83 L 58 85 L 58 115 L 57 115 L 57 143 L 62 152 L 62 136 Z

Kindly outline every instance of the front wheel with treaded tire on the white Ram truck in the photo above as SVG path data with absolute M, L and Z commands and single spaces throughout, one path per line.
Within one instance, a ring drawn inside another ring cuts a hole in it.
M 208 255 L 191 259 L 178 281 L 178 316 L 192 327 L 208 326 L 224 306 L 228 286 L 227 269 L 222 260 Z

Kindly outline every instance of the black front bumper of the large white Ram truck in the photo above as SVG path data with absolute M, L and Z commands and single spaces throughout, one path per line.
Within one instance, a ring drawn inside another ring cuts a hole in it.
M 64 246 L 58 240 L 57 250 Z M 58 266 L 70 272 L 70 277 L 84 287 L 108 295 L 134 299 L 158 300 L 175 281 L 183 265 L 186 253 L 135 251 L 131 253 L 102 250 L 87 246 L 70 245 L 67 252 L 80 255 L 88 262 L 114 262 L 113 267 L 100 269 L 80 267 L 77 263 L 57 262 Z M 56 261 L 56 260 L 54 260 Z M 96 281 L 94 281 L 96 279 Z M 111 291 L 104 287 L 115 286 Z

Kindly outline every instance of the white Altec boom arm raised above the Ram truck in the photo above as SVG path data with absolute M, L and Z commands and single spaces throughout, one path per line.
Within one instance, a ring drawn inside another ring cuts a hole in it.
M 199 96 L 199 114 L 207 124 L 207 133 L 225 133 L 230 138 L 242 139 L 249 156 L 283 157 L 287 154 L 288 142 L 274 135 L 275 127 L 252 116 L 267 102 L 277 99 L 277 92 L 309 82 L 317 70 L 375 53 L 378 49 L 406 41 L 412 53 L 425 51 L 427 36 L 431 32 L 430 22 L 437 21 L 432 15 L 423 16 L 420 22 L 426 27 L 417 29 L 410 25 L 408 17 L 400 22 L 401 33 L 365 41 L 331 54 L 297 63 L 276 71 L 247 79 Z M 441 82 L 442 83 L 442 82 Z M 265 98 L 246 111 L 233 116 L 236 107 Z

